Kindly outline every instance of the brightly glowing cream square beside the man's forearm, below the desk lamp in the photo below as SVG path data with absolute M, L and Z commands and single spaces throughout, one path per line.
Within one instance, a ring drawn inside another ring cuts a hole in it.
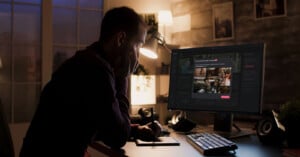
M 155 75 L 131 75 L 130 101 L 132 105 L 156 104 Z

